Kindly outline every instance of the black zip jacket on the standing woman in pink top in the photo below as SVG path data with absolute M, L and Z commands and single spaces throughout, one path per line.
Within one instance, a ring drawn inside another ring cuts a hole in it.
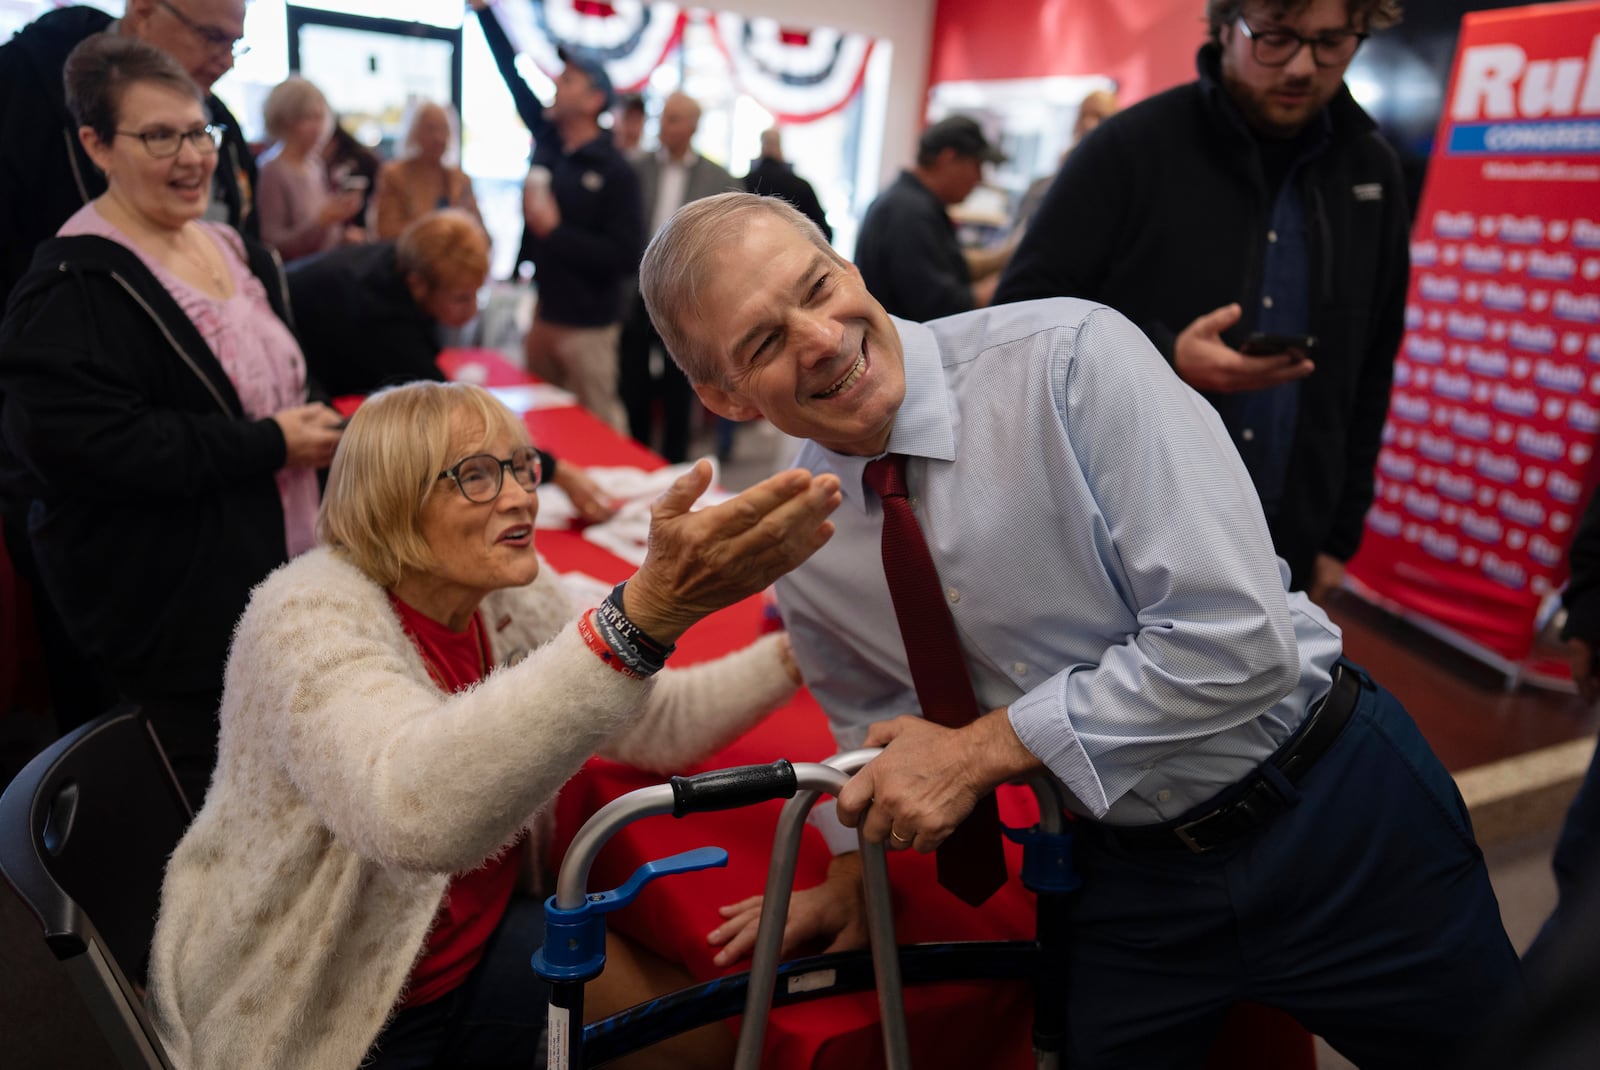
M 286 317 L 282 269 L 246 246 Z M 0 323 L 0 491 L 30 504 L 46 593 L 123 696 L 221 689 L 250 589 L 286 560 L 285 456 L 131 250 L 40 246 Z

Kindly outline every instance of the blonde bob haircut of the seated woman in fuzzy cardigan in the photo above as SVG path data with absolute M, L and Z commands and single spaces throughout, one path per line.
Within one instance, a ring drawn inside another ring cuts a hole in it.
M 422 502 L 429 494 L 459 494 L 438 473 L 499 435 L 528 441 L 523 422 L 470 382 L 379 390 L 355 409 L 333 454 L 317 537 L 382 587 L 434 571 L 438 561 L 422 537 Z

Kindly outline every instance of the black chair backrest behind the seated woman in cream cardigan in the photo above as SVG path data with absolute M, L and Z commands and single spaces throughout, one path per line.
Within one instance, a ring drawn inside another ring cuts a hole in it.
M 123 1067 L 170 1067 L 139 990 L 166 857 L 192 817 L 133 707 L 67 733 L 0 795 L 0 875 L 38 918 Z

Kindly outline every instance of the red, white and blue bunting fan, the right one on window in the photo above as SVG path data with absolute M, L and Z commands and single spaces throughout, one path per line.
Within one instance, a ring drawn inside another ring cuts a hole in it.
M 786 123 L 810 123 L 850 104 L 867 77 L 872 38 L 832 29 L 797 29 L 776 19 L 710 16 L 733 80 Z

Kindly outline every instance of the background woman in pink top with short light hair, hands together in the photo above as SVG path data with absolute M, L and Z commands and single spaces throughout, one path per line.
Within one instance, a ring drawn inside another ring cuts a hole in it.
M 262 118 L 274 144 L 261 154 L 256 178 L 261 238 L 285 261 L 339 245 L 344 224 L 362 210 L 362 195 L 328 190 L 322 146 L 333 134 L 333 112 L 322 90 L 293 75 L 267 93 Z

